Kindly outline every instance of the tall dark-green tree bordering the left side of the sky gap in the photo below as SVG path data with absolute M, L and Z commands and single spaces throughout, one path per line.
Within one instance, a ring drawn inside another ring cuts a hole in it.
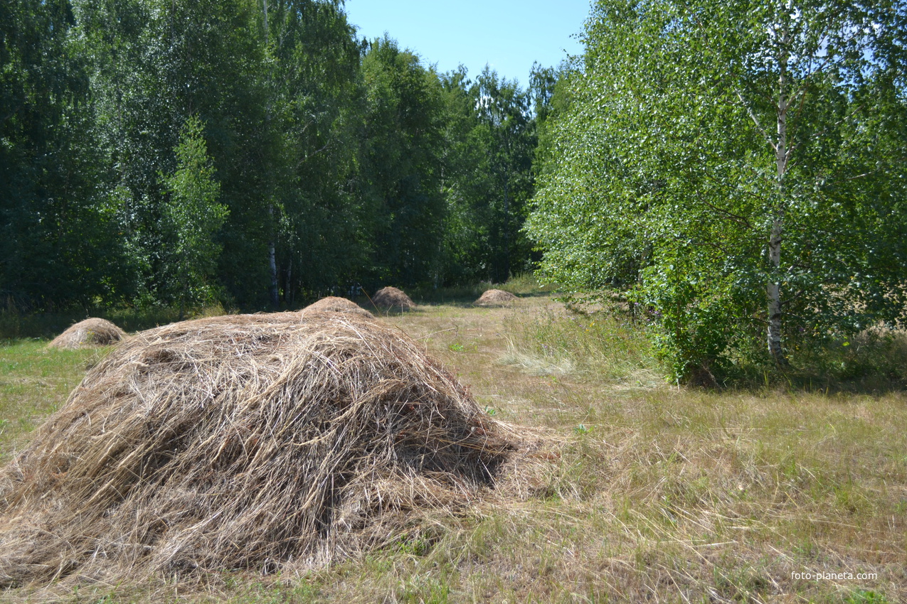
M 361 170 L 365 86 L 361 49 L 342 5 L 269 2 L 266 35 L 264 168 L 275 212 L 268 229 L 274 231 L 278 288 L 293 305 L 311 292 L 364 278 L 373 220 Z M 237 222 L 237 235 L 244 222 Z M 241 257 L 230 266 L 229 280 L 239 288 L 245 277 L 236 264 Z

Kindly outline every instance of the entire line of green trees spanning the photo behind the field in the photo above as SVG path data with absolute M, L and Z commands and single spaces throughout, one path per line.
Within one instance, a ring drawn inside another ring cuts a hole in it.
M 903 325 L 904 3 L 596 0 L 581 39 L 523 89 L 340 0 L 9 0 L 0 296 L 273 308 L 537 266 L 706 383 Z

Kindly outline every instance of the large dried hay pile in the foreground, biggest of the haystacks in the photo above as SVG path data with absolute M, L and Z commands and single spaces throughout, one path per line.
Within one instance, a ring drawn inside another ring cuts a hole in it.
M 0 470 L 0 585 L 322 565 L 491 494 L 510 437 L 380 321 L 143 331 Z

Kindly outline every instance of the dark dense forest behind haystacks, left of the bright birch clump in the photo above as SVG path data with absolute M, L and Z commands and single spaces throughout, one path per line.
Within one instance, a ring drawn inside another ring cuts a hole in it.
M 540 103 L 363 40 L 338 0 L 0 5 L 0 297 L 298 305 L 505 281 Z

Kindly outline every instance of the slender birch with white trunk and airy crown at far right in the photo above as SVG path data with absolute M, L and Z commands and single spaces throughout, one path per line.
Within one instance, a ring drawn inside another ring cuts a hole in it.
M 769 204 L 766 244 L 766 331 L 768 350 L 784 364 L 782 249 L 788 207 L 814 202 L 821 192 L 810 195 L 810 187 L 827 190 L 829 177 L 843 176 L 835 165 L 843 158 L 832 152 L 834 145 L 846 152 L 846 138 L 852 134 L 848 125 L 877 109 L 867 107 L 868 99 L 857 95 L 897 71 L 898 65 L 892 64 L 897 57 L 888 53 L 888 46 L 903 40 L 905 8 L 898 3 L 850 2 L 715 8 L 720 12 L 711 17 L 714 24 L 698 16 L 692 19 L 699 33 L 697 48 L 704 56 L 714 48 L 711 61 L 727 64 L 727 74 L 719 73 L 724 81 L 715 82 L 716 91 L 746 110 L 753 135 L 764 141 L 774 159 L 775 197 Z M 741 19 L 744 8 L 746 18 Z M 724 40 L 717 38 L 721 34 Z M 832 115 L 827 115 L 829 110 Z M 872 177 L 873 171 L 857 178 Z

